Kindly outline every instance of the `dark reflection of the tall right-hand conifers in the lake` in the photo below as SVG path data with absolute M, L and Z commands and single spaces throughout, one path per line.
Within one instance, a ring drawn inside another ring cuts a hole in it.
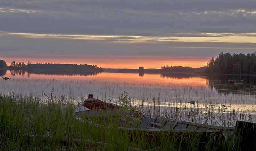
M 242 94 L 256 92 L 256 76 L 207 76 L 206 84 L 220 94 Z

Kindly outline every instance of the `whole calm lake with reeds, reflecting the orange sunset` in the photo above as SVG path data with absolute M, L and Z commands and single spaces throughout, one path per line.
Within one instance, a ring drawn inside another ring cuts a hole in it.
M 0 91 L 45 100 L 64 94 L 75 104 L 94 98 L 118 104 L 127 91 L 145 114 L 215 125 L 255 122 L 256 77 L 199 74 L 87 73 L 0 70 Z M 188 103 L 195 101 L 195 104 Z M 228 121 L 227 121 L 228 119 Z

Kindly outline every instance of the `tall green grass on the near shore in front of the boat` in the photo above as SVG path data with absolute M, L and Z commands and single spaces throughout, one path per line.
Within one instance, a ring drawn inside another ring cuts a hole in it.
M 113 126 L 97 127 L 74 118 L 75 104 L 68 95 L 59 99 L 53 94 L 45 97 L 42 100 L 41 96 L 0 94 L 0 150 L 241 149 L 239 139 L 225 140 L 218 134 L 121 131 L 111 117 L 108 121 L 112 119 Z M 92 120 L 98 122 L 99 119 Z M 78 143 L 78 139 L 82 140 Z

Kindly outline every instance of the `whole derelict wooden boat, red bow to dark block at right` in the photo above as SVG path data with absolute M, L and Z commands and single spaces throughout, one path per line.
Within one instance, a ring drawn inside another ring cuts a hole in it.
M 117 131 L 128 132 L 131 142 L 134 142 L 134 139 L 138 142 L 144 139 L 149 144 L 152 142 L 157 144 L 164 136 L 164 138 L 169 137 L 170 140 L 174 138 L 185 144 L 186 138 L 195 138 L 200 142 L 201 150 L 203 150 L 207 142 L 211 140 L 232 142 L 238 139 L 241 140 L 241 144 L 235 145 L 235 148 L 249 148 L 248 150 L 256 148 L 253 146 L 256 140 L 256 123 L 236 121 L 236 127 L 223 127 L 165 117 L 151 118 L 129 107 L 121 107 L 95 99 L 92 94 L 89 94 L 88 99 L 75 109 L 74 117 L 99 128 L 112 129 L 114 127 Z M 109 120 L 116 124 L 111 125 Z M 100 122 L 97 123 L 97 121 Z

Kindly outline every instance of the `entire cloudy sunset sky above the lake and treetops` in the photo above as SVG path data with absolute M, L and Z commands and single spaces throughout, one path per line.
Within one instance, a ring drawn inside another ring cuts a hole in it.
M 0 0 L 0 59 L 203 67 L 256 52 L 256 0 Z

